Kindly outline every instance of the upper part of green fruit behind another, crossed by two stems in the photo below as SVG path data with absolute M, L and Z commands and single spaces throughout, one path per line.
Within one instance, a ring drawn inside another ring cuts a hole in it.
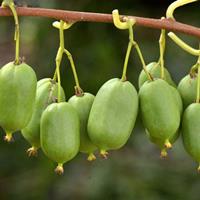
M 146 66 L 146 68 L 153 78 L 161 77 L 161 68 L 158 63 L 151 62 Z M 172 80 L 171 75 L 166 68 L 164 68 L 164 80 L 166 80 L 171 86 L 176 87 L 176 84 Z M 141 88 L 146 81 L 148 81 L 148 77 L 144 70 L 142 70 L 138 79 L 139 88 Z

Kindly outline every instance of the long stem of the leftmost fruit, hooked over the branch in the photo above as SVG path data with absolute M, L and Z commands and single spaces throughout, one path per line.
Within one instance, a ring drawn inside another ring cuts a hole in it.
M 13 0 L 9 0 L 6 1 L 4 0 L 2 2 L 2 7 L 9 7 L 13 16 L 14 16 L 14 21 L 15 21 L 15 36 L 14 36 L 14 40 L 15 40 L 15 65 L 19 65 L 20 64 L 20 58 L 19 58 L 19 45 L 20 45 L 20 29 L 19 29 L 19 19 L 18 19 L 18 15 L 15 9 L 15 4 L 13 2 Z

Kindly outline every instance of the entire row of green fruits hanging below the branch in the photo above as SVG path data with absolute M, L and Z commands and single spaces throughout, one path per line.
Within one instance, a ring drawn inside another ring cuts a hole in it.
M 153 78 L 148 80 L 144 71 L 139 76 L 140 112 L 146 134 L 165 157 L 181 131 L 186 150 L 200 162 L 200 104 L 194 103 L 197 69 L 193 68 L 177 89 L 166 68 L 164 79 L 160 78 L 159 63 L 150 63 L 146 69 Z M 27 64 L 11 62 L 2 67 L 0 125 L 6 132 L 5 140 L 11 141 L 12 133 L 21 130 L 32 146 L 28 154 L 36 155 L 41 146 L 58 163 L 58 173 L 79 151 L 87 153 L 91 161 L 97 149 L 106 158 L 108 150 L 125 145 L 138 113 L 138 94 L 129 81 L 111 79 L 96 97 L 82 92 L 65 102 L 62 88 L 60 96 L 57 102 L 55 80 L 45 78 L 37 82 L 35 72 Z

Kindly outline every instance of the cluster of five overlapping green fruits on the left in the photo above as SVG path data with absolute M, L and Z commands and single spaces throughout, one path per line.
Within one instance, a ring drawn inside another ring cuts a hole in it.
M 21 130 L 32 145 L 29 155 L 37 149 L 58 163 L 56 171 L 63 172 L 63 163 L 81 151 L 88 160 L 93 152 L 107 156 L 107 150 L 118 149 L 128 140 L 135 124 L 138 96 L 128 81 L 112 79 L 106 82 L 96 97 L 90 93 L 75 95 L 57 102 L 58 84 L 50 79 L 37 82 L 32 68 L 25 63 L 8 63 L 0 70 L 0 125 L 5 140 Z

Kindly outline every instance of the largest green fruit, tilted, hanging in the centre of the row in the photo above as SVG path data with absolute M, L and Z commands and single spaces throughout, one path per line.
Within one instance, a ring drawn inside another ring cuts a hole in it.
M 138 95 L 128 81 L 107 81 L 98 91 L 88 120 L 90 139 L 100 150 L 119 149 L 128 140 L 138 113 Z

